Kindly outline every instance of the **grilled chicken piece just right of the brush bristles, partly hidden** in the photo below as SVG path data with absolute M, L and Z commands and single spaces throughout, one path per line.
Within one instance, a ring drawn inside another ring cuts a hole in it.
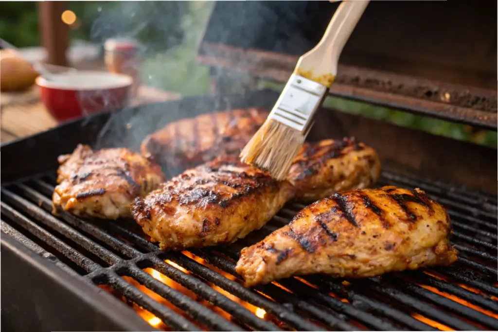
M 372 186 L 380 176 L 375 150 L 354 138 L 305 143 L 289 171 L 295 199 L 314 202 L 334 193 Z

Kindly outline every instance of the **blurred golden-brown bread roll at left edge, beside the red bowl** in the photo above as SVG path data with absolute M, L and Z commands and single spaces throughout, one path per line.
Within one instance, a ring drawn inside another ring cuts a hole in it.
M 0 91 L 25 90 L 34 84 L 38 73 L 31 64 L 12 50 L 0 50 Z

